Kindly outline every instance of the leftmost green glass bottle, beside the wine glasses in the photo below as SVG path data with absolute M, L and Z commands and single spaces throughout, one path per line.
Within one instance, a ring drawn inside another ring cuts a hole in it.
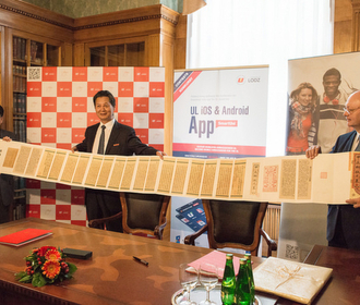
M 233 271 L 232 254 L 226 255 L 226 264 L 221 282 L 223 305 L 232 305 L 235 297 L 236 277 Z

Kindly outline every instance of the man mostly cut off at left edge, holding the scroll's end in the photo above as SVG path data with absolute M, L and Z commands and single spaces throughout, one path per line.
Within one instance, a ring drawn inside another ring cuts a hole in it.
M 3 108 L 0 106 L 0 138 L 11 141 L 15 134 L 1 129 Z M 14 178 L 10 174 L 0 174 L 0 223 L 10 221 L 10 206 L 14 200 Z

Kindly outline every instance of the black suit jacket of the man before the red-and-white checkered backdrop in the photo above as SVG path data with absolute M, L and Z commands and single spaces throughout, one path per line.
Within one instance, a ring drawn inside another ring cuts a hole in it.
M 93 145 L 99 124 L 100 123 L 97 123 L 86 129 L 84 141 L 76 145 L 79 151 L 93 151 Z M 117 121 L 113 122 L 105 155 L 156 155 L 156 151 L 157 150 L 155 148 L 143 144 L 132 127 L 120 124 Z

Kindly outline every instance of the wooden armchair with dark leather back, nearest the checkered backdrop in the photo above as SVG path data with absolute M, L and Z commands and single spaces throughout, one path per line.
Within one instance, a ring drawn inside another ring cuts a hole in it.
M 122 219 L 124 233 L 143 233 L 163 239 L 170 197 L 157 194 L 120 193 L 122 211 L 108 218 L 94 219 L 88 227 L 98 228 L 106 221 Z

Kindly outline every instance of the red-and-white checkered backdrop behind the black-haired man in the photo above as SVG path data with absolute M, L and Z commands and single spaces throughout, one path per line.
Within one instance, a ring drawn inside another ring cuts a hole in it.
M 164 68 L 28 68 L 26 142 L 62 149 L 81 143 L 86 127 L 99 122 L 93 96 L 109 90 L 116 98 L 115 119 L 163 151 L 164 82 Z M 84 188 L 33 179 L 26 188 L 26 217 L 86 224 Z

